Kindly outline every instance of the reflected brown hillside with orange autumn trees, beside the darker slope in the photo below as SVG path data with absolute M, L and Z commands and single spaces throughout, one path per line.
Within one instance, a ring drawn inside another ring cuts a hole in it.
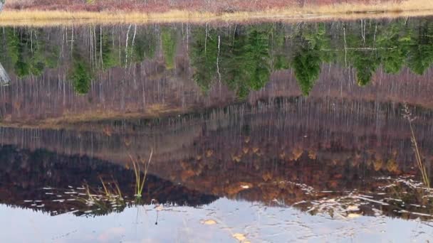
M 417 116 L 414 130 L 424 131 L 417 139 L 429 164 L 432 114 L 410 108 Z M 0 135 L 2 144 L 21 149 L 110 161 L 120 172 L 101 171 L 115 178 L 132 180 L 131 168 L 125 171 L 128 155 L 147 158 L 155 148 L 152 175 L 203 195 L 294 205 L 311 213 L 329 214 L 331 208 L 340 215 L 356 205 L 364 215 L 429 220 L 429 190 L 417 182 L 409 133 L 399 105 L 299 97 L 176 118 L 99 121 L 75 130 L 4 128 Z M 88 162 L 82 163 L 86 168 Z M 337 202 L 328 205 L 329 200 Z

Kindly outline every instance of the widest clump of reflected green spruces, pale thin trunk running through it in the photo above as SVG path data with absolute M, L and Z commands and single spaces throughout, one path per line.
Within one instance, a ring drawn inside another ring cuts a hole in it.
M 239 28 L 234 33 L 217 33 L 207 27 L 193 31 L 193 77 L 202 90 L 207 92 L 216 77 L 221 77 L 239 99 L 264 87 L 271 74 L 270 33 L 266 27 Z

